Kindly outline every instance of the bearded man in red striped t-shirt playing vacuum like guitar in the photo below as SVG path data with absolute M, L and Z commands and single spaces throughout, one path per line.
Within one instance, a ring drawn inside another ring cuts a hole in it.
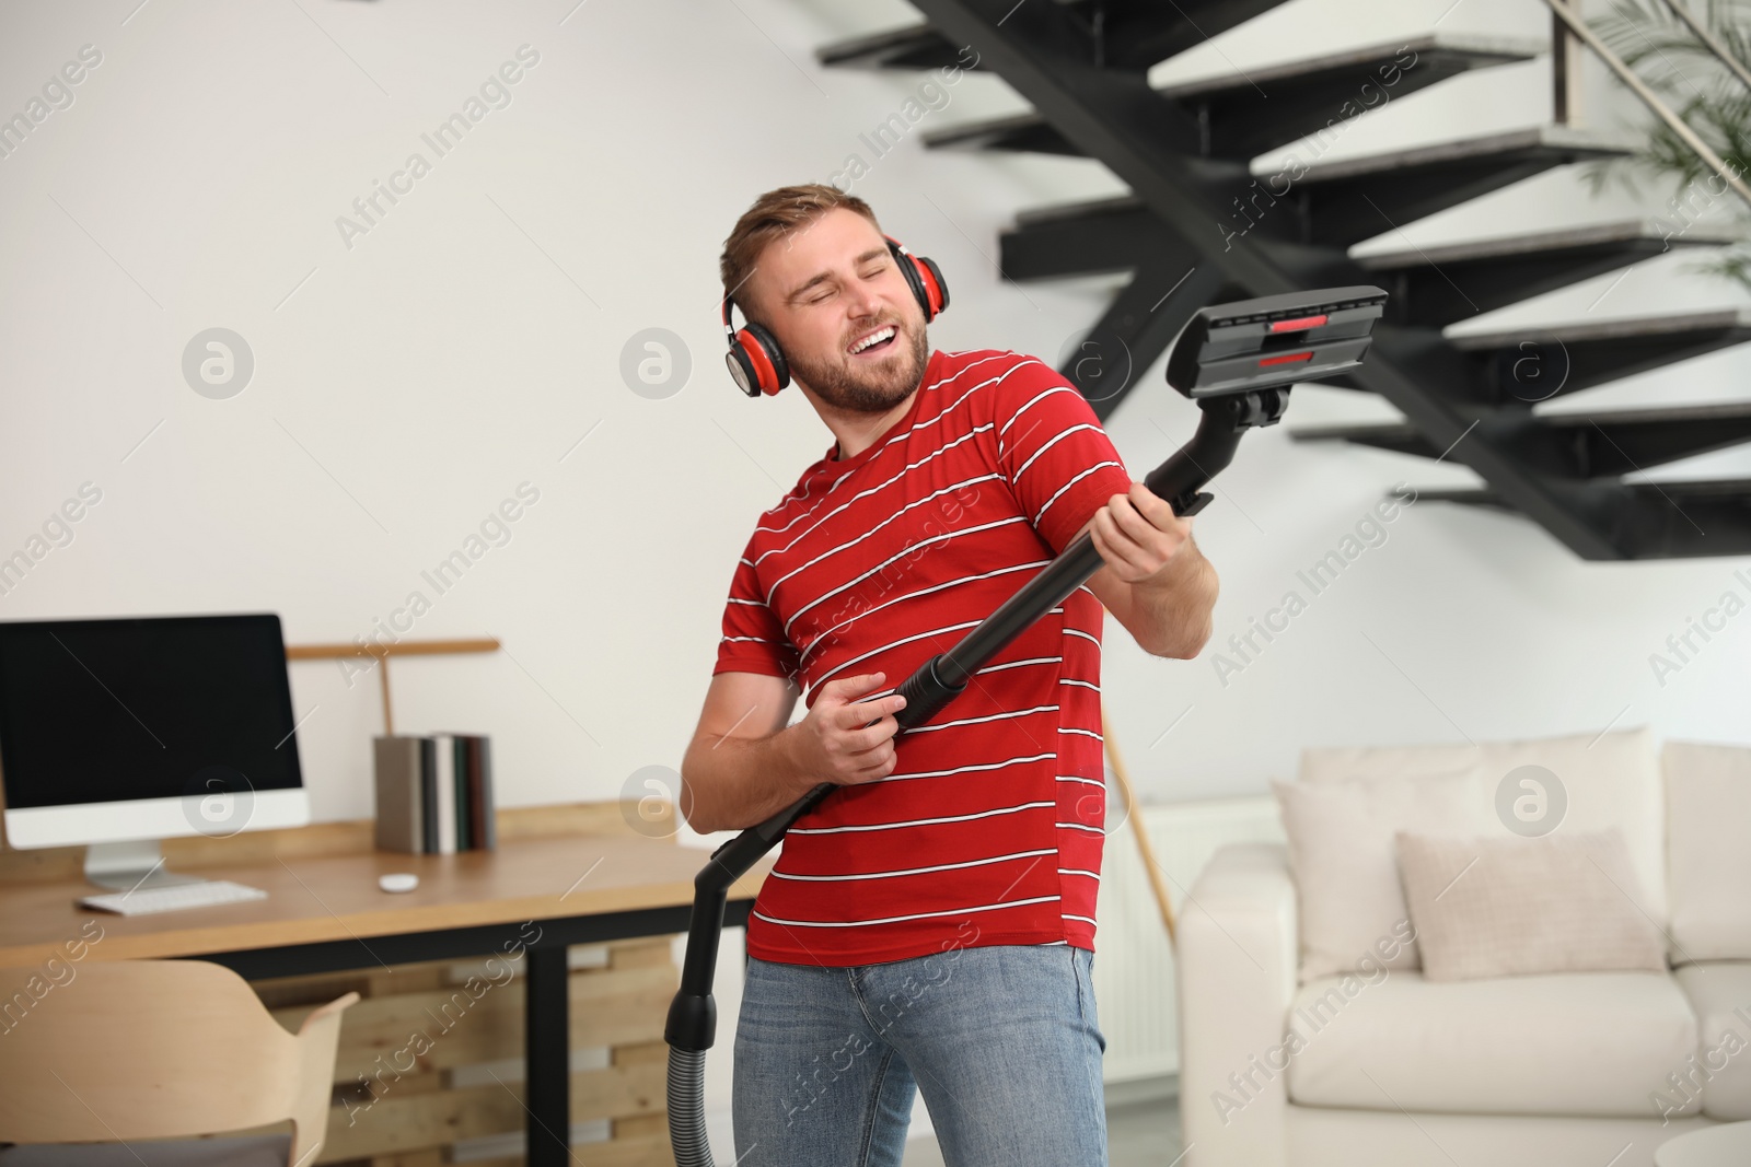
M 898 1167 L 923 1090 L 947 1164 L 1105 1164 L 1101 605 L 1191 658 L 1215 570 L 1049 366 L 930 350 L 898 262 L 863 199 L 818 184 L 763 194 L 721 261 L 837 439 L 748 541 L 681 763 L 699 831 L 842 787 L 748 924 L 737 1162 Z M 897 735 L 897 686 L 1082 530 L 1089 584 Z

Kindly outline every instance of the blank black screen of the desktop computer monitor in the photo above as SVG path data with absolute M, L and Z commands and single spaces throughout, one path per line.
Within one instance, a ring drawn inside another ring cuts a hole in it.
M 280 618 L 0 621 L 9 810 L 298 789 Z

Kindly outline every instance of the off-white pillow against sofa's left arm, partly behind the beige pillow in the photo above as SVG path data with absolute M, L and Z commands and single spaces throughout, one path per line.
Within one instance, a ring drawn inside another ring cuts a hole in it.
M 1481 831 L 1471 780 L 1273 786 L 1301 910 L 1301 982 L 1378 966 L 1417 968 L 1417 933 L 1392 840 L 1401 829 Z

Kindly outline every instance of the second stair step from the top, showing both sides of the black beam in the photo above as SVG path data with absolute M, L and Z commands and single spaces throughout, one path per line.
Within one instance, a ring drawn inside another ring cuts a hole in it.
M 1250 159 L 1306 136 L 1331 119 L 1345 117 L 1345 103 L 1362 108 L 1364 86 L 1375 101 L 1390 91 L 1401 98 L 1457 73 L 1487 65 L 1525 61 L 1544 51 L 1543 42 L 1483 37 L 1425 35 L 1366 49 L 1347 49 L 1304 61 L 1273 65 L 1245 75 L 1189 80 L 1156 89 L 1198 121 L 1203 154 Z M 1413 65 L 1399 65 L 1410 58 Z M 1397 72 L 1387 86 L 1385 77 Z M 1080 157 L 1082 147 L 1065 138 L 1038 114 L 1012 114 L 949 126 L 925 135 L 930 149 L 1024 150 Z

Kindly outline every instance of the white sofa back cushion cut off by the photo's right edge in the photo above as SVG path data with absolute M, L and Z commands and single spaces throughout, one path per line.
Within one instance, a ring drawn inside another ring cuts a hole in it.
M 1672 959 L 1751 961 L 1751 749 L 1667 742 Z

